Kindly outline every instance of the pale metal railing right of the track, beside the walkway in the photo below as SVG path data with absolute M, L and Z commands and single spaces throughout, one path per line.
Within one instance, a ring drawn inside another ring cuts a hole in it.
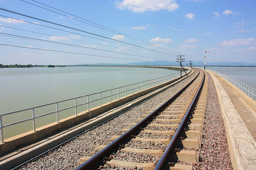
M 214 72 L 215 74 L 223 77 L 225 80 L 227 80 L 228 82 L 233 84 L 235 87 L 237 87 L 243 93 L 245 93 L 247 96 L 249 96 L 250 98 L 252 98 L 253 100 L 256 101 L 256 90 L 254 88 L 252 88 L 252 87 L 248 86 L 247 84 L 244 84 L 241 81 L 238 81 L 238 80 L 234 79 L 233 77 L 230 77 L 226 74 L 217 72 L 215 70 L 209 70 L 209 71 Z

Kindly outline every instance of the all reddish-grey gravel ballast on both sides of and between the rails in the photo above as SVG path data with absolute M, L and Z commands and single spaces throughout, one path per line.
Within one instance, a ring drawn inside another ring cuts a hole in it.
M 102 124 L 99 127 L 94 128 L 82 134 L 78 138 L 50 151 L 49 153 L 37 158 L 36 160 L 23 165 L 20 170 L 35 170 L 35 169 L 75 169 L 80 164 L 78 159 L 82 156 L 93 156 L 97 153 L 95 148 L 99 145 L 108 145 L 112 140 L 110 138 L 114 135 L 120 135 L 122 129 L 128 128 L 130 123 L 136 122 L 136 119 L 142 118 L 143 114 L 146 114 L 152 108 L 156 108 L 166 98 L 187 84 L 195 74 L 183 80 L 182 82 L 168 88 L 166 91 L 154 96 L 153 98 L 142 102 L 140 105 L 135 106 L 131 110 L 121 114 L 120 116 Z M 211 76 L 208 74 L 208 100 L 206 119 L 203 130 L 202 148 L 199 151 L 200 162 L 193 163 L 196 169 L 227 169 L 231 170 L 232 164 L 230 160 L 230 154 L 228 150 L 226 132 L 224 128 L 223 119 L 221 117 L 220 105 L 218 103 L 218 97 L 216 89 Z M 164 114 L 164 113 L 163 113 Z M 181 114 L 181 113 L 177 113 Z M 160 123 L 160 122 L 159 122 Z M 169 122 L 168 122 L 169 123 Z M 173 128 L 167 127 L 146 127 L 150 130 L 173 130 Z M 140 137 L 145 137 L 147 133 L 140 133 Z M 156 138 L 162 137 L 169 138 L 169 135 L 155 134 Z M 140 142 L 130 140 L 126 147 L 133 147 L 137 149 L 165 149 L 164 145 L 154 142 Z M 183 148 L 190 150 L 189 148 Z M 121 155 L 121 156 L 120 156 Z M 125 151 L 120 153 L 113 153 L 113 157 L 119 160 L 126 160 L 126 156 L 132 155 L 135 162 L 152 162 L 155 163 L 159 160 L 159 157 L 148 156 L 143 154 L 130 154 Z M 143 161 L 142 161 L 143 160 Z M 187 164 L 178 162 L 181 164 Z M 126 169 L 120 167 L 111 167 L 111 165 L 104 165 L 103 169 Z M 132 169 L 132 168 L 129 168 Z M 133 168 L 136 169 L 136 168 Z

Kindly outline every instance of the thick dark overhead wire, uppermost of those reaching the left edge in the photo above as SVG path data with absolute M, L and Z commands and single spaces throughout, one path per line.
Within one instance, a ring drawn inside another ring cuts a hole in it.
M 9 9 L 5 9 L 5 8 L 1 8 L 1 7 L 0 7 L 0 9 L 1 9 L 1 10 L 4 10 L 4 11 L 7 11 L 7 12 L 10 12 L 10 13 L 18 14 L 18 15 L 21 15 L 21 16 L 26 16 L 26 17 L 29 17 L 29 18 L 32 18 L 32 19 L 35 19 L 35 20 L 47 22 L 47 23 L 50 23 L 50 24 L 58 25 L 58 26 L 61 26 L 61 27 L 73 29 L 73 30 L 80 31 L 80 32 L 85 32 L 85 33 L 87 33 L 87 34 L 91 34 L 91 35 L 94 35 L 94 36 L 99 36 L 99 37 L 102 37 L 102 38 L 114 40 L 114 41 L 116 41 L 116 42 L 120 42 L 120 43 L 124 43 L 124 44 L 129 44 L 129 45 L 132 45 L 132 46 L 140 47 L 140 48 L 142 48 L 142 49 L 147 49 L 147 50 L 151 50 L 151 51 L 155 51 L 155 52 L 160 52 L 160 51 L 148 49 L 148 48 L 145 48 L 145 47 L 142 47 L 142 46 L 139 46 L 139 45 L 135 45 L 135 44 L 131 44 L 131 43 L 126 43 L 126 42 L 123 42 L 123 41 L 120 41 L 120 40 L 116 40 L 116 39 L 113 39 L 113 38 L 109 38 L 109 37 L 105 37 L 105 36 L 102 36 L 102 35 L 94 34 L 94 33 L 88 32 L 88 31 L 80 30 L 80 29 L 77 29 L 77 28 L 72 28 L 72 27 L 69 27 L 69 26 L 66 26 L 66 25 L 62 25 L 62 24 L 59 24 L 59 23 L 55 23 L 55 22 L 43 20 L 43 19 L 40 19 L 40 18 L 38 18 L 38 17 L 29 16 L 29 15 L 26 15 L 26 14 L 21 14 L 21 13 L 19 13 L 19 12 L 15 12 L 15 11 L 12 11 L 12 10 L 9 10 Z M 163 52 L 160 52 L 160 53 L 163 53 Z M 167 54 L 167 53 L 165 53 L 165 54 Z

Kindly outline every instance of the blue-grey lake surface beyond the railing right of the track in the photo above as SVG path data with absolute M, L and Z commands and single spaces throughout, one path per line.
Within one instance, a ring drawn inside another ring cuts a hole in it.
M 224 73 L 256 89 L 256 67 L 206 67 L 206 69 Z

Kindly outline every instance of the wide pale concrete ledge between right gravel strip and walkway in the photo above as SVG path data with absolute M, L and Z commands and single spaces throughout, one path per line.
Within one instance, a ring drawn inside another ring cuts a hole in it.
M 256 143 L 220 82 L 213 73 L 209 73 L 213 78 L 220 102 L 233 169 L 254 170 L 256 165 Z

